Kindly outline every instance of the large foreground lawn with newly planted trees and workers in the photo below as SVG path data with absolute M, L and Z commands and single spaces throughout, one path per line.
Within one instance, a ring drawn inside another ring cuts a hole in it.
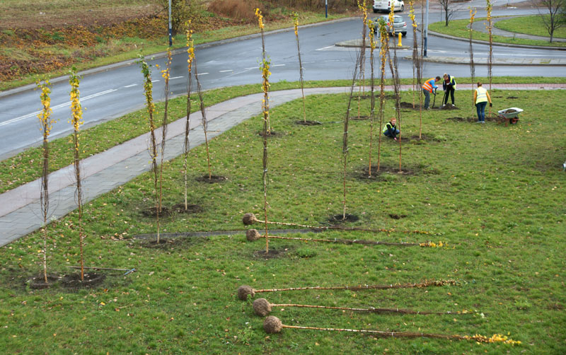
M 478 125 L 450 117 L 473 107 L 429 111 L 423 132 L 431 141 L 405 141 L 403 166 L 414 175 L 383 173 L 359 178 L 368 163 L 369 121 L 350 124 L 347 176 L 352 226 L 424 230 L 441 235 L 340 233 L 310 238 L 357 238 L 421 242 L 445 248 L 334 245 L 272 240 L 278 257 L 265 260 L 265 243 L 243 234 L 188 238 L 156 249 L 133 238 L 153 233 L 151 182 L 144 174 L 85 206 L 86 264 L 137 268 L 108 273 L 99 288 L 33 290 L 24 283 L 40 270 L 41 235 L 32 233 L 0 249 L 0 349 L 6 354 L 563 354 L 566 252 L 562 162 L 566 122 L 563 91 L 492 91 L 494 109 L 521 107 L 516 126 Z M 458 91 L 457 103 L 470 93 Z M 513 99 L 510 96 L 519 98 Z M 404 94 L 403 101 L 410 101 Z M 362 101 L 362 114 L 367 103 Z M 335 122 L 347 96 L 307 98 L 308 120 Z M 354 106 L 355 107 L 355 106 Z M 357 109 L 357 107 L 355 107 Z M 342 211 L 342 125 L 304 127 L 296 100 L 271 110 L 281 136 L 269 141 L 269 218 L 315 224 Z M 386 117 L 393 115 L 391 100 Z M 404 110 L 405 137 L 418 132 L 418 112 Z M 243 229 L 246 212 L 262 213 L 260 117 L 243 122 L 211 144 L 213 173 L 221 184 L 190 180 L 190 202 L 199 214 L 174 214 L 164 232 Z M 377 130 L 377 129 L 376 129 Z M 377 134 L 376 137 L 377 138 Z M 190 155 L 190 175 L 207 171 L 204 147 Z M 376 156 L 374 156 L 374 162 Z M 381 142 L 381 165 L 398 164 L 398 144 Z M 183 161 L 166 163 L 164 204 L 183 199 Z M 392 219 L 390 214 L 406 215 Z M 77 216 L 50 227 L 53 273 L 78 264 Z M 259 226 L 258 226 L 259 227 Z M 113 276 L 112 276 L 113 275 Z M 376 339 L 352 333 L 284 329 L 267 335 L 251 301 L 236 289 L 289 286 L 395 284 L 455 279 L 457 286 L 386 291 L 260 293 L 271 303 L 347 307 L 471 311 L 466 315 L 364 314 L 275 308 L 286 325 L 377 329 L 442 334 L 508 334 L 521 345 L 449 342 L 440 339 Z

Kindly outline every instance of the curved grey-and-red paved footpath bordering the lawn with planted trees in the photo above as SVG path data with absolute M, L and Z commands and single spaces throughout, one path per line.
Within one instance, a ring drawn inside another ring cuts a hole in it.
M 412 86 L 402 86 L 410 90 Z M 566 89 L 566 84 L 495 84 L 501 90 L 554 90 Z M 459 84 L 459 90 L 470 90 L 470 85 Z M 306 95 L 346 93 L 350 88 L 308 88 Z M 369 88 L 368 88 L 369 90 Z M 392 91 L 391 86 L 386 90 Z M 233 98 L 207 108 L 209 136 L 214 137 L 231 127 L 261 112 L 263 94 Z M 270 105 L 274 107 L 301 98 L 301 90 L 274 91 L 270 93 Z M 204 143 L 200 112 L 191 114 L 190 144 L 192 147 Z M 165 159 L 171 160 L 183 153 L 185 120 L 177 120 L 168 126 Z M 156 132 L 157 136 L 161 131 Z M 84 203 L 125 184 L 149 170 L 147 152 L 148 134 L 142 134 L 107 151 L 81 161 Z M 76 209 L 73 167 L 69 165 L 50 174 L 50 214 L 61 218 Z M 0 247 L 23 237 L 42 226 L 40 217 L 40 180 L 28 182 L 13 190 L 0 194 Z

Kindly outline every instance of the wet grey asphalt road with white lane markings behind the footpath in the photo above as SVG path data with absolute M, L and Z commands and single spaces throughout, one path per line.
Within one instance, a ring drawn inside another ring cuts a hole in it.
M 476 1 L 476 0 L 474 0 Z M 480 1 L 481 4 L 485 4 Z M 478 3 L 479 4 L 479 3 Z M 469 3 L 467 3 L 469 6 Z M 433 9 L 434 10 L 434 9 Z M 534 12 L 533 12 L 534 11 Z M 408 10 L 405 19 L 408 20 Z M 536 13 L 533 9 L 502 10 L 500 14 L 513 15 Z M 497 11 L 494 12 L 497 15 Z M 468 10 L 456 11 L 454 18 L 467 18 Z M 485 16 L 478 13 L 478 17 Z M 420 14 L 417 13 L 417 20 Z M 439 13 L 432 13 L 430 22 L 439 21 Z M 409 28 L 410 29 L 410 28 Z M 301 59 L 305 80 L 330 80 L 352 78 L 356 50 L 337 47 L 336 42 L 359 38 L 362 32 L 360 19 L 338 21 L 324 25 L 308 26 L 299 30 Z M 271 59 L 271 81 L 299 80 L 299 65 L 296 56 L 296 42 L 292 30 L 274 33 L 265 37 L 267 54 Z M 412 33 L 403 38 L 405 44 L 412 43 Z M 474 57 L 487 57 L 489 47 L 474 45 Z M 468 43 L 429 36 L 429 56 L 468 57 Z M 494 57 L 565 57 L 566 52 L 555 50 L 526 50 L 513 47 L 494 47 Z M 403 78 L 412 77 L 412 64 L 401 59 L 410 55 L 411 50 L 399 50 L 399 72 Z M 197 47 L 198 72 L 204 89 L 260 83 L 258 61 L 261 57 L 261 40 L 258 37 L 229 42 L 222 45 Z M 151 64 L 165 62 L 164 58 L 150 61 Z M 187 91 L 187 54 L 173 57 L 170 89 L 173 95 Z M 369 64 L 366 65 L 369 68 Z M 424 76 L 437 76 L 448 72 L 456 77 L 470 76 L 467 64 L 424 63 Z M 476 66 L 476 76 L 487 76 L 487 66 Z M 545 66 L 495 66 L 494 76 L 566 76 L 563 67 Z M 163 99 L 163 79 L 154 69 L 154 99 Z M 81 103 L 83 105 L 84 127 L 112 120 L 127 112 L 138 110 L 144 105 L 143 76 L 136 64 L 118 66 L 115 69 L 84 76 L 81 80 Z M 69 109 L 69 84 L 60 81 L 52 87 L 53 117 L 58 120 L 52 130 L 52 137 L 69 134 L 71 124 Z M 39 92 L 21 91 L 0 94 L 0 159 L 13 156 L 23 149 L 40 144 L 41 133 L 37 113 L 41 109 Z

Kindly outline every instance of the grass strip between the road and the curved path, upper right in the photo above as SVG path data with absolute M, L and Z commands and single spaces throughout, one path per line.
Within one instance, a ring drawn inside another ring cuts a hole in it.
M 485 18 L 476 18 L 475 22 L 485 22 Z M 453 20 L 450 21 L 448 27 L 444 25 L 444 21 L 431 23 L 429 25 L 429 30 L 444 33 L 445 35 L 452 35 L 456 37 L 469 38 L 470 30 L 468 30 L 469 20 Z M 563 42 L 548 42 L 548 40 L 524 40 L 522 38 L 512 38 L 494 35 L 493 42 L 499 43 L 509 43 L 513 45 L 538 45 L 538 46 L 553 46 L 553 47 L 566 47 L 566 43 Z M 474 40 L 490 40 L 490 35 L 488 33 L 473 31 Z

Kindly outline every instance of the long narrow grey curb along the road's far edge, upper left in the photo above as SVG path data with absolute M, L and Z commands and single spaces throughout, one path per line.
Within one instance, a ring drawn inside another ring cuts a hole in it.
M 338 23 L 338 22 L 345 22 L 345 21 L 352 21 L 354 19 L 357 19 L 357 17 L 347 17 L 347 18 L 337 18 L 336 20 L 330 20 L 330 21 L 323 21 L 323 22 L 317 22 L 317 23 L 309 23 L 308 25 L 300 25 L 300 28 L 311 28 L 311 27 L 316 27 L 316 26 L 320 26 L 320 25 L 325 25 L 327 23 Z M 275 35 L 277 33 L 284 33 L 284 32 L 289 32 L 294 30 L 294 28 L 289 27 L 289 28 L 280 28 L 279 30 L 272 30 L 272 31 L 268 31 L 265 32 L 265 35 Z M 215 47 L 218 45 L 226 45 L 227 43 L 233 43 L 233 42 L 239 42 L 239 41 L 243 41 L 243 40 L 250 40 L 253 38 L 257 38 L 257 37 L 261 37 L 261 33 L 253 33 L 252 35 L 245 35 L 245 36 L 241 36 L 241 37 L 234 37 L 234 38 L 228 38 L 226 40 L 219 40 L 219 41 L 214 41 L 214 42 L 209 42 L 209 43 L 202 43 L 201 45 L 196 45 L 195 49 L 199 50 L 199 49 L 204 49 L 204 48 L 209 48 L 209 47 Z M 187 47 L 182 47 L 182 48 L 177 48 L 175 50 L 171 51 L 171 54 L 175 55 L 175 54 L 180 54 L 181 52 L 186 52 Z M 154 53 L 154 54 L 147 54 L 146 56 L 144 56 L 144 59 L 146 60 L 151 60 L 151 59 L 160 59 L 163 57 L 167 56 L 167 52 L 158 52 L 158 53 Z M 109 71 L 111 69 L 116 69 L 116 68 L 121 68 L 122 66 L 130 66 L 132 64 L 136 64 L 136 62 L 139 59 L 128 59 L 124 62 L 117 62 L 117 63 L 113 63 L 113 64 L 108 64 L 108 65 L 104 65 L 104 66 L 98 66 L 96 68 L 91 68 L 91 69 L 86 69 L 84 71 L 79 71 L 79 76 L 89 76 L 92 74 L 97 74 L 103 71 Z M 67 81 L 69 79 L 68 76 L 57 76 L 56 78 L 50 78 L 50 82 L 51 83 L 59 83 L 61 81 Z M 0 98 L 1 97 L 6 97 L 6 96 L 10 96 L 10 95 L 14 95 L 16 93 L 21 93 L 23 91 L 28 91 L 28 90 L 34 90 L 36 88 L 35 83 L 31 83 L 31 84 L 27 84 L 24 86 L 20 86 L 18 88 L 12 88 L 6 91 L 0 91 Z

